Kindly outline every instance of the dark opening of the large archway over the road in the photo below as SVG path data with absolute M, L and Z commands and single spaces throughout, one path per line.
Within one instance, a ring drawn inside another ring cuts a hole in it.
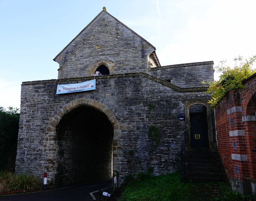
M 112 177 L 113 127 L 99 110 L 82 105 L 57 126 L 56 186 Z

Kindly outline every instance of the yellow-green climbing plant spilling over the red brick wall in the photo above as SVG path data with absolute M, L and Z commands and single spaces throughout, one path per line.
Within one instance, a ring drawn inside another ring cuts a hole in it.
M 221 73 L 219 80 L 202 81 L 203 84 L 209 84 L 206 94 L 211 94 L 212 98 L 208 103 L 211 104 L 212 108 L 219 105 L 228 91 L 244 88 L 242 82 L 256 72 L 256 69 L 252 69 L 252 65 L 256 61 L 256 56 L 248 60 L 239 56 L 238 58 L 234 58 L 234 61 L 235 65 L 233 67 L 227 66 L 226 61 L 221 61 L 221 65 L 215 67 L 217 73 Z

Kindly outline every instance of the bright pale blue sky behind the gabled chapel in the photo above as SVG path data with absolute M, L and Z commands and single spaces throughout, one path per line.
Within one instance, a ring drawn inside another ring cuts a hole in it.
M 57 79 L 52 59 L 103 6 L 156 47 L 162 66 L 256 54 L 255 0 L 1 0 L 0 106 L 20 108 L 22 81 Z

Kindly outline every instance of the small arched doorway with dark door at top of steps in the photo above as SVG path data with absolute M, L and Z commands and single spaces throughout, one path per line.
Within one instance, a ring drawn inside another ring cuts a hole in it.
M 191 148 L 209 148 L 207 108 L 202 104 L 189 107 Z

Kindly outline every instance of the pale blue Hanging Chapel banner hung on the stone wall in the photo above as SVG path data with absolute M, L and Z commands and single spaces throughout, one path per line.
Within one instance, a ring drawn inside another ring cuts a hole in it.
M 93 89 L 95 89 L 95 79 L 76 84 L 58 84 L 56 94 L 74 93 Z

